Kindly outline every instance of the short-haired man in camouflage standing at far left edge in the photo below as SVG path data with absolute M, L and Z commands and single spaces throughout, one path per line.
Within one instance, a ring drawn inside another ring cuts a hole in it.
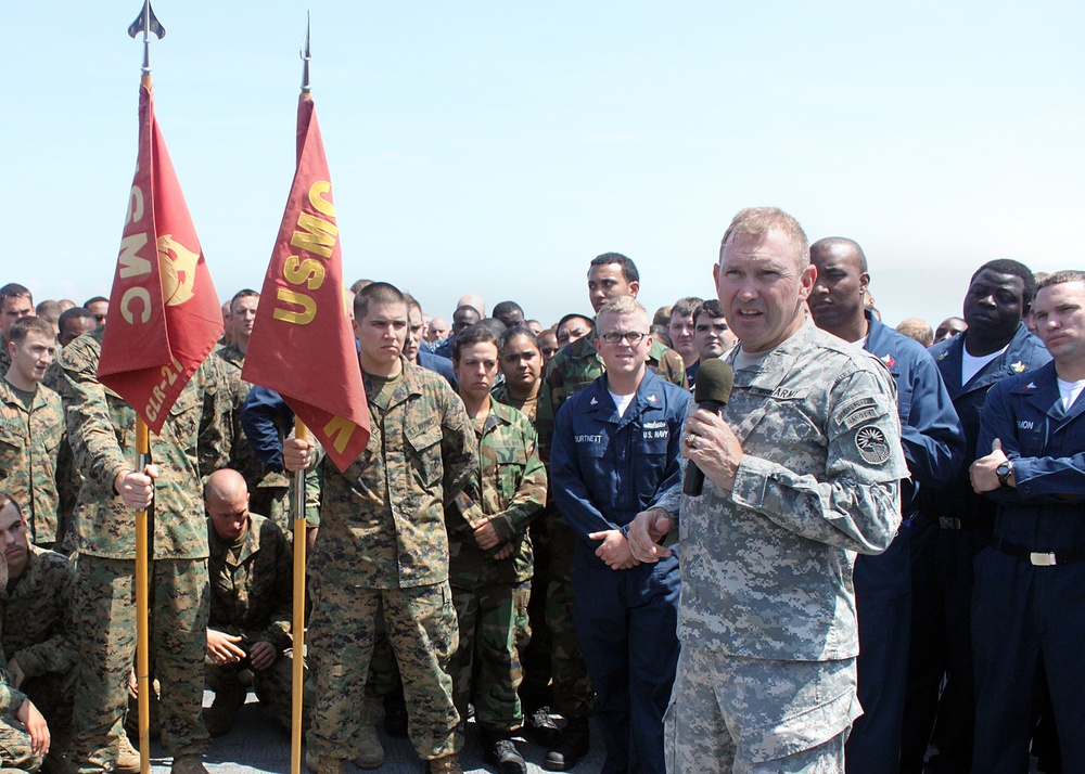
M 53 326 L 36 317 L 15 320 L 5 347 L 11 365 L 0 379 L 0 487 L 18 503 L 34 542 L 56 542 L 58 461 L 64 412 L 56 392 L 41 384 L 53 362 Z

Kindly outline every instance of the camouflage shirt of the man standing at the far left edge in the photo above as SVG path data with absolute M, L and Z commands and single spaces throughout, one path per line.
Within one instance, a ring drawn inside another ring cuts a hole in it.
M 0 489 L 18 503 L 39 545 L 56 541 L 56 463 L 63 439 L 59 395 L 39 384 L 27 411 L 0 378 Z

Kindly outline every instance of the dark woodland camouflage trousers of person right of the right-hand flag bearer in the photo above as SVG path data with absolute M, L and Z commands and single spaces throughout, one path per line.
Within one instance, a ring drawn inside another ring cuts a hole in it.
M 475 720 L 483 731 L 500 733 L 523 724 L 520 695 L 523 680 L 518 640 L 531 629 L 527 602 L 532 584 L 452 588 L 460 645 L 452 658 L 456 709 L 468 717 L 474 701 Z

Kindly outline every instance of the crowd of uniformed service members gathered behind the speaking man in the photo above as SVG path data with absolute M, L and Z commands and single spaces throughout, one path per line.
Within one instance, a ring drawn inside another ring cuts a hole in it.
M 992 261 L 961 318 L 894 331 L 857 244 L 821 240 L 810 258 L 809 320 L 892 375 L 909 472 L 897 538 L 854 567 L 864 714 L 847 771 L 1024 772 L 1030 750 L 1045 771 L 1085 771 L 1071 660 L 1085 628 L 1085 382 L 1059 372 L 1054 425 L 1043 407 L 997 425 L 984 409 L 1025 372 L 1036 379 L 998 405 L 1048 397 L 1055 314 L 1034 317 L 1036 278 Z M 497 771 L 526 771 L 524 737 L 546 767 L 573 769 L 592 717 L 603 771 L 664 771 L 680 559 L 641 564 L 627 531 L 681 486 L 688 390 L 736 339 L 726 298 L 681 298 L 650 320 L 625 256 L 599 256 L 587 278 L 592 312 L 550 327 L 512 301 L 486 317 L 474 294 L 449 324 L 390 284 L 356 283 L 373 435 L 345 472 L 290 437 L 279 396 L 241 379 L 257 293 L 222 306 L 222 341 L 154 439 L 153 468 L 136 470 L 135 414 L 95 375 L 107 299 L 34 307 L 27 288 L 0 288 L 4 771 L 138 771 L 131 513 L 152 491 L 152 732 L 173 770 L 205 771 L 208 736 L 230 732 L 251 689 L 289 727 L 292 470 L 306 488 L 311 771 L 379 767 L 382 717 L 429 771 L 460 771 L 472 713 Z M 1085 300 L 1082 279 L 1044 287 Z M 1025 492 L 1019 461 L 1032 457 L 1055 462 Z M 1032 521 L 1010 524 L 1022 508 Z M 201 711 L 205 686 L 215 701 Z

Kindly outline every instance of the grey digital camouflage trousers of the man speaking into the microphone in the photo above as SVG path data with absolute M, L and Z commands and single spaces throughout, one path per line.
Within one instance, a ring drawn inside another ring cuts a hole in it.
M 665 724 L 668 774 L 843 774 L 863 710 L 855 659 L 773 661 L 681 645 Z

